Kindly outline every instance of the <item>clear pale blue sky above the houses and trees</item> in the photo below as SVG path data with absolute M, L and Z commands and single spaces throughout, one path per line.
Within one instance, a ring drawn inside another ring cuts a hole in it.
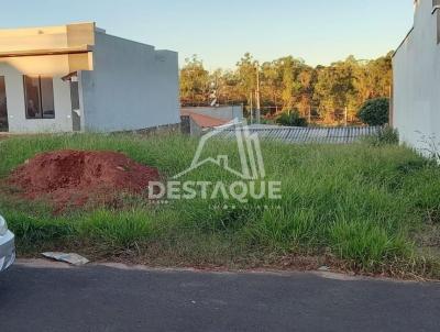
M 395 49 L 413 25 L 413 0 L 13 0 L 0 29 L 97 22 L 109 34 L 194 54 L 232 69 L 244 53 L 261 62 L 293 55 L 316 66 Z

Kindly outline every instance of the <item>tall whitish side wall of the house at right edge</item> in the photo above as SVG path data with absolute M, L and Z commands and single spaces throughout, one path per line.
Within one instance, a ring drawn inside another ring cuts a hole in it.
M 391 122 L 402 142 L 424 151 L 440 141 L 440 0 L 415 1 L 414 27 L 393 58 Z

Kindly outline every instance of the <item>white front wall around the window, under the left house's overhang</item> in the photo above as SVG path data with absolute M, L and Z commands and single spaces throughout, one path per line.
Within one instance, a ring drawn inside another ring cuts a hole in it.
M 72 131 L 70 86 L 61 78 L 68 71 L 68 56 L 0 58 L 0 76 L 4 76 L 9 131 L 45 133 Z M 52 76 L 55 119 L 26 119 L 23 75 Z

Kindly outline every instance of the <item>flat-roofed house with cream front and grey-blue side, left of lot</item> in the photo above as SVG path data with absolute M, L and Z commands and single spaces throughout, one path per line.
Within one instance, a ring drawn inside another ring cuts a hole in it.
M 95 23 L 0 30 L 0 126 L 133 131 L 179 119 L 177 53 Z

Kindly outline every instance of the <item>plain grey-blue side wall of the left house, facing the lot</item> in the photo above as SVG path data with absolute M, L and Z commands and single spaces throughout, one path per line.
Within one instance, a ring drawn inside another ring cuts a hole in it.
M 180 122 L 177 53 L 97 32 L 94 70 L 81 73 L 89 131 Z

